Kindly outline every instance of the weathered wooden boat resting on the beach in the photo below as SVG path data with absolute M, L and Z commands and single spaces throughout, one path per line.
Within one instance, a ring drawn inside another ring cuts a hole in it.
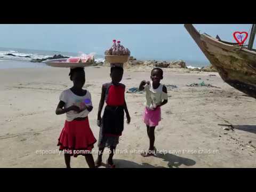
M 256 50 L 252 49 L 256 25 L 252 25 L 249 44 L 239 45 L 199 34 L 192 24 L 185 24 L 188 33 L 218 70 L 223 81 L 235 89 L 256 98 Z

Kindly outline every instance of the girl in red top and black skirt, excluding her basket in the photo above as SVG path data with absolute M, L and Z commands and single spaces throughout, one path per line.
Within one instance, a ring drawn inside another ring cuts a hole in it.
M 97 167 L 101 165 L 104 148 L 109 147 L 110 153 L 107 164 L 109 167 L 114 168 L 114 151 L 119 142 L 119 136 L 122 135 L 124 130 L 124 111 L 126 113 L 127 124 L 130 124 L 131 118 L 124 98 L 125 85 L 119 83 L 123 78 L 124 70 L 122 67 L 111 67 L 110 71 L 112 82 L 103 84 L 101 91 L 97 121 L 98 126 L 100 126 L 99 155 L 95 164 Z M 107 106 L 101 118 L 101 111 L 105 101 Z

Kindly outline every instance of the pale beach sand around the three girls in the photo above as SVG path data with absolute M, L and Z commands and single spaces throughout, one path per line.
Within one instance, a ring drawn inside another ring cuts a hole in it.
M 125 70 L 126 90 L 149 80 L 150 69 Z M 218 73 L 186 73 L 163 69 L 169 102 L 162 107 L 162 121 L 156 127 L 157 157 L 131 154 L 149 147 L 142 122 L 145 93 L 126 93 L 131 124 L 124 132 L 114 156 L 117 167 L 256 167 L 256 101 L 222 81 Z M 92 94 L 91 129 L 98 140 L 97 113 L 101 85 L 110 82 L 108 67 L 89 67 L 85 89 Z M 135 72 L 140 71 L 140 72 Z M 63 154 L 37 154 L 37 150 L 58 150 L 57 140 L 65 115 L 55 115 L 61 91 L 73 84 L 69 69 L 0 70 L 0 167 L 65 167 Z M 210 74 L 216 76 L 209 76 Z M 201 78 L 201 79 L 198 79 Z M 208 79 L 208 80 L 207 80 Z M 201 83 L 220 87 L 189 87 Z M 224 130 L 230 128 L 234 130 Z M 97 143 L 94 150 L 97 151 Z M 51 152 L 53 153 L 53 152 Z M 97 154 L 93 154 L 94 160 Z M 106 162 L 108 154 L 103 154 Z M 71 158 L 71 167 L 88 167 L 83 156 Z M 104 167 L 104 166 L 102 166 Z

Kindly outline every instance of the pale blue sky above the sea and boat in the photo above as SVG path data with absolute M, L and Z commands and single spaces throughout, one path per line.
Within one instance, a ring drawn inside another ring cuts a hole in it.
M 201 33 L 235 42 L 234 31 L 250 32 L 250 24 L 197 24 Z M 138 59 L 207 61 L 183 24 L 163 25 L 0 25 L 0 47 L 96 52 L 103 54 L 112 39 Z M 248 42 L 248 40 L 247 40 Z M 254 48 L 256 47 L 256 40 Z

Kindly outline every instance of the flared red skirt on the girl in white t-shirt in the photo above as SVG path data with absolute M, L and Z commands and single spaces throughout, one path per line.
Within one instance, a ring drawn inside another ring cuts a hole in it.
M 60 150 L 64 150 L 64 153 L 77 157 L 91 153 L 95 142 L 97 140 L 86 118 L 83 121 L 66 121 L 57 146 L 60 146 Z

